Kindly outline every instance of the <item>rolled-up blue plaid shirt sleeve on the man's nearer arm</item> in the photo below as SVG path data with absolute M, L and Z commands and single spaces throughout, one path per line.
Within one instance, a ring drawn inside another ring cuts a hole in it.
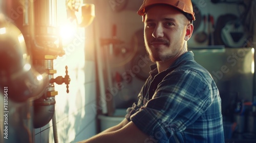
M 167 141 L 193 124 L 210 105 L 209 86 L 204 78 L 191 70 L 167 75 L 153 98 L 131 116 L 131 121 L 151 137 Z

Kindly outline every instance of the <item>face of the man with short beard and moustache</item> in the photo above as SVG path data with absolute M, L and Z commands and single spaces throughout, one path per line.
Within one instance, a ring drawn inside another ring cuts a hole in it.
M 185 41 L 190 38 L 186 37 L 188 25 L 188 19 L 173 7 L 156 5 L 148 9 L 144 22 L 144 39 L 151 60 L 166 61 L 184 50 Z

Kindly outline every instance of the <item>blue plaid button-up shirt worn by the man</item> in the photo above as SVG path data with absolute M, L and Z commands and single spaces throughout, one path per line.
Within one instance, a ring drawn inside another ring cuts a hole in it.
M 150 136 L 144 142 L 224 142 L 219 90 L 192 52 L 150 74 L 125 115 Z

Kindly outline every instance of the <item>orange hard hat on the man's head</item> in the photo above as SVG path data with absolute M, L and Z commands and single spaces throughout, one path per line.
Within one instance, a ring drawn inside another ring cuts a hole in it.
M 185 16 L 189 20 L 196 20 L 195 12 L 193 11 L 193 5 L 191 0 L 144 0 L 143 4 L 140 6 L 140 9 L 137 12 L 139 15 L 143 17 L 143 21 L 144 21 L 144 16 L 146 14 L 145 9 L 148 6 L 152 6 L 156 4 L 165 4 L 165 5 L 175 7 L 181 10 L 182 12 L 184 12 Z

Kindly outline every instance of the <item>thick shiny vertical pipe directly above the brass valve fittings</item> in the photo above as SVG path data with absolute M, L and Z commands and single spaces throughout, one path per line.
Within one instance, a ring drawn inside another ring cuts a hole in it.
M 31 0 L 29 0 L 31 1 Z M 57 28 L 57 1 L 38 0 L 33 2 L 34 7 L 34 35 L 31 42 L 35 58 L 44 58 L 44 55 L 63 56 L 61 44 L 56 45 L 59 39 Z

